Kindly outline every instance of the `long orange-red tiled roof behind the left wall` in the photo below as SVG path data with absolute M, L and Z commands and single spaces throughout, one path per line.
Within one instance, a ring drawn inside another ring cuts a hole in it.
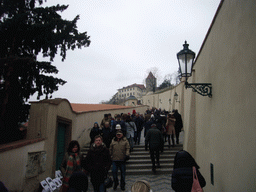
M 110 105 L 110 104 L 80 104 L 70 103 L 73 111 L 75 112 L 88 112 L 88 111 L 103 111 L 111 109 L 127 109 L 129 106 Z

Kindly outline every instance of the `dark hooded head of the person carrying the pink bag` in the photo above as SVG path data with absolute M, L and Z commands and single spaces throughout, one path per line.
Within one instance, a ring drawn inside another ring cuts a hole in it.
M 196 167 L 199 169 L 200 167 L 197 165 L 195 159 L 190 155 L 189 152 L 185 150 L 181 150 L 176 153 L 174 158 L 174 169 L 182 168 L 182 167 Z

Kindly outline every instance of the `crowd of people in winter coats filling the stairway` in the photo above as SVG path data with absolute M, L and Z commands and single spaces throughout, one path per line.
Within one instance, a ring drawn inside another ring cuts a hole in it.
M 171 113 L 161 111 L 161 109 L 147 110 L 145 114 L 136 113 L 133 110 L 132 114 L 116 114 L 112 117 L 111 114 L 105 114 L 102 121 L 95 122 L 90 131 L 90 149 L 85 158 L 80 155 L 80 146 L 77 141 L 71 141 L 61 164 L 61 171 L 64 175 L 62 191 L 74 190 L 74 173 L 81 191 L 87 191 L 88 179 L 93 185 L 95 192 L 105 192 L 106 184 L 104 183 L 112 165 L 113 189 L 116 190 L 120 185 L 122 191 L 125 190 L 125 173 L 126 162 L 130 158 L 130 153 L 133 151 L 134 145 L 140 145 L 142 130 L 144 129 L 145 150 L 148 150 L 152 162 L 152 171 L 156 172 L 156 168 L 160 167 L 159 153 L 163 152 L 164 142 L 168 142 L 169 148 L 179 144 L 179 133 L 183 127 L 181 115 L 178 110 L 173 110 Z M 171 141 L 172 144 L 171 144 Z M 187 157 L 192 163 L 184 163 L 184 157 Z M 175 157 L 175 171 L 173 175 L 173 189 L 175 191 L 184 191 L 179 183 L 187 182 L 190 177 L 193 183 L 193 170 L 195 167 L 198 174 L 200 184 L 203 187 L 205 181 L 198 171 L 199 166 L 193 160 L 193 157 L 182 151 L 177 153 Z M 118 169 L 120 170 L 120 182 L 118 179 Z M 79 173 L 79 174 L 78 174 Z M 179 174 L 187 174 L 185 179 L 179 177 Z M 179 181 L 182 178 L 182 181 Z M 81 186 L 81 180 L 87 183 L 87 186 Z M 187 183 L 189 187 L 192 183 Z M 87 187 L 87 188 L 86 188 Z M 181 187 L 181 188 L 180 188 Z M 150 191 L 150 185 L 147 182 L 137 181 L 134 183 L 133 189 L 141 188 Z M 142 191 L 142 190 L 140 190 Z M 191 191 L 191 190 L 190 190 Z

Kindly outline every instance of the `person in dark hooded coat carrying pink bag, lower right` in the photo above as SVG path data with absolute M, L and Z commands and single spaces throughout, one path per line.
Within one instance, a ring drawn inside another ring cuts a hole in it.
M 195 159 L 185 150 L 176 153 L 172 173 L 172 188 L 176 192 L 190 192 L 193 184 L 193 167 L 196 168 L 200 186 L 206 185 Z

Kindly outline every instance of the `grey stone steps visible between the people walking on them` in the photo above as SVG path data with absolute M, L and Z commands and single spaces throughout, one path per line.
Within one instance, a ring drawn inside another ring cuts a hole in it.
M 81 149 L 82 154 L 87 154 L 89 146 Z M 173 170 L 175 154 L 183 149 L 183 145 L 175 145 L 168 148 L 167 142 L 164 145 L 163 153 L 160 153 L 160 168 L 156 169 L 156 174 L 171 174 Z M 152 174 L 152 163 L 149 150 L 145 151 L 144 141 L 140 145 L 135 145 L 130 154 L 130 160 L 126 164 L 126 175 L 149 175 Z

